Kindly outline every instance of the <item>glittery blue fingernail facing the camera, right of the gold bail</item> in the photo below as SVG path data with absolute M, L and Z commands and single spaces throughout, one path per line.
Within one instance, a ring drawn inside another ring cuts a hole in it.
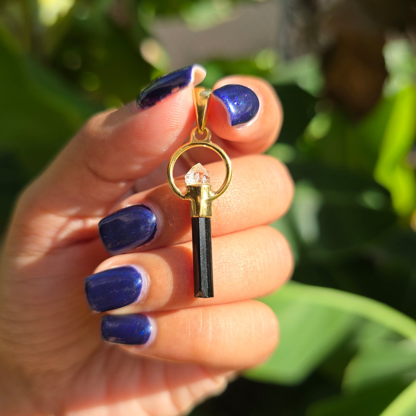
M 228 123 L 231 126 L 247 123 L 253 119 L 260 106 L 254 91 L 244 85 L 224 85 L 212 93 L 223 102 L 228 111 Z

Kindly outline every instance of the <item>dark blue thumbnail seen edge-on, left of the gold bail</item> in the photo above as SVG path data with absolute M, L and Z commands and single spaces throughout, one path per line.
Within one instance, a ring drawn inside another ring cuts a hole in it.
M 137 97 L 137 105 L 142 109 L 152 107 L 169 95 L 188 87 L 191 82 L 199 84 L 205 75 L 206 70 L 198 64 L 173 71 L 155 79 L 146 87 Z

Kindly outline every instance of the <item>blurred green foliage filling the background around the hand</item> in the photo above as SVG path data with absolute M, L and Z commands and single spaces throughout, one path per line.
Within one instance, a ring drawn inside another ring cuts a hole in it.
M 213 10 L 209 1 L 131 0 L 121 24 L 113 0 L 64 10 L 69 3 L 56 21 L 42 17 L 47 1 L 0 6 L 2 229 L 17 193 L 88 116 L 129 102 L 168 70 L 168 57 L 151 65 L 139 52 L 151 19 Z M 387 43 L 384 58 L 384 94 L 360 119 L 324 98 L 318 56 L 285 62 L 261 50 L 201 62 L 207 86 L 255 74 L 280 96 L 285 121 L 270 154 L 287 163 L 296 195 L 274 225 L 296 269 L 263 299 L 279 318 L 280 347 L 193 415 L 416 414 L 416 61 L 405 39 Z

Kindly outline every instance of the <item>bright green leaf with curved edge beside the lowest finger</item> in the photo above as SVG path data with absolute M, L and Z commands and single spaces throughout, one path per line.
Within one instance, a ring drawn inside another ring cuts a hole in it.
M 252 379 L 296 384 L 305 379 L 357 323 L 369 319 L 406 338 L 416 322 L 397 310 L 352 293 L 290 282 L 262 298 L 280 322 L 280 346 L 264 364 L 245 373 Z

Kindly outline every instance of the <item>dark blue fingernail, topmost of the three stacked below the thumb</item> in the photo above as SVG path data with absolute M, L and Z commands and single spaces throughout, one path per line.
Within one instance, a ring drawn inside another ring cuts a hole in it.
M 98 223 L 104 247 L 110 254 L 120 254 L 149 243 L 156 234 L 156 217 L 144 205 L 118 210 Z

